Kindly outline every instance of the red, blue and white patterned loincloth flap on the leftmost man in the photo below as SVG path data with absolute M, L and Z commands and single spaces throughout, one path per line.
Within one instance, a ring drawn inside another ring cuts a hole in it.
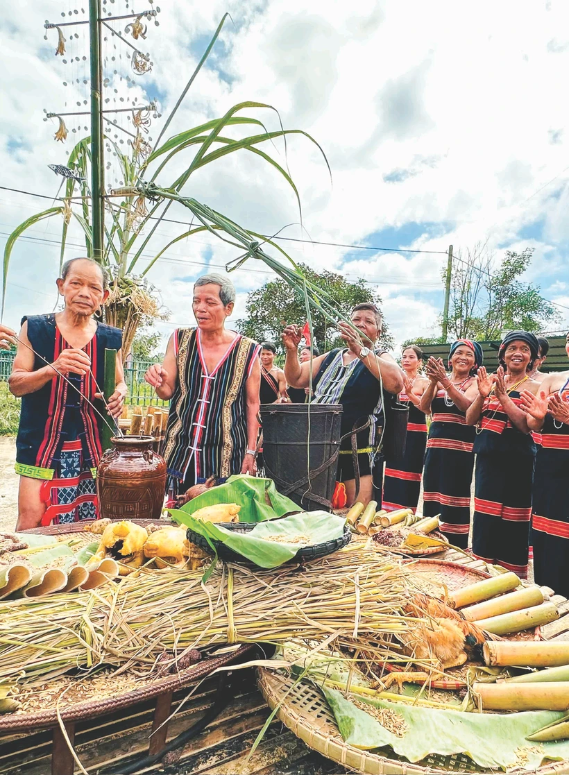
M 53 479 L 45 480 L 41 486 L 41 498 L 47 507 L 42 525 L 97 519 L 95 477 L 83 462 L 81 441 L 64 442 L 60 461 L 54 467 Z

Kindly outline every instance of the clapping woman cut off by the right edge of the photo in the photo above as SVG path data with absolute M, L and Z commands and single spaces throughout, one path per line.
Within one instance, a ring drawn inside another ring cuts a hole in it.
M 565 346 L 569 355 L 569 334 Z M 539 398 L 522 391 L 528 425 L 541 432 L 533 480 L 532 541 L 536 584 L 569 597 L 569 371 L 548 374 Z

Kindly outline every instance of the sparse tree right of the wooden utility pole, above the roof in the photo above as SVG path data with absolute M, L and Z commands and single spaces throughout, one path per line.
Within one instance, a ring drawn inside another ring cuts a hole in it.
M 557 318 L 540 287 L 519 277 L 529 267 L 533 248 L 506 250 L 495 266 L 486 243 L 458 251 L 450 284 L 449 333 L 455 339 L 501 339 L 505 331 L 540 332 Z M 443 276 L 446 274 L 446 269 Z

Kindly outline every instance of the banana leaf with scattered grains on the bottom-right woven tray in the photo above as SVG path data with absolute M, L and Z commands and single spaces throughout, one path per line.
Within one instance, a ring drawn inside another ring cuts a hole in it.
M 373 716 L 357 708 L 342 692 L 326 687 L 322 691 L 343 740 L 359 749 L 390 746 L 398 756 L 405 756 L 410 762 L 420 762 L 433 753 L 440 756 L 464 753 L 478 766 L 502 770 L 514 766 L 535 770 L 544 760 L 569 758 L 569 741 L 536 746 L 526 740 L 526 735 L 535 732 L 540 725 L 562 718 L 562 712 L 465 713 L 358 697 L 375 708 L 388 708 L 402 715 L 408 729 L 398 737 Z M 522 755 L 521 759 L 518 753 Z

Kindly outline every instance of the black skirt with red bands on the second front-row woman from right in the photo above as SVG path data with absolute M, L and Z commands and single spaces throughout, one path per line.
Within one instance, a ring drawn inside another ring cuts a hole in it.
M 535 457 L 478 453 L 474 483 L 472 553 L 527 577 Z

